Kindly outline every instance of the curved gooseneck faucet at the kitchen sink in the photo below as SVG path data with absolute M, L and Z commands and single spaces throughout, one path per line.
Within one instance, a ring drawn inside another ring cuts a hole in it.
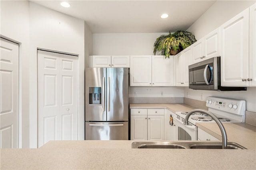
M 195 112 L 203 112 L 203 113 L 209 115 L 210 117 L 212 117 L 212 119 L 214 119 L 214 121 L 218 124 L 218 126 L 220 128 L 220 131 L 221 131 L 221 135 L 222 135 L 222 149 L 227 149 L 227 146 L 228 146 L 227 141 L 228 141 L 228 139 L 227 139 L 226 130 L 225 130 L 223 124 L 220 122 L 220 120 L 213 113 L 211 113 L 210 111 L 207 111 L 207 110 L 204 110 L 204 109 L 194 109 L 194 110 L 188 112 L 188 114 L 185 117 L 185 121 L 184 121 L 183 124 L 184 125 L 188 125 L 188 118 L 190 117 L 190 115 L 192 115 Z

